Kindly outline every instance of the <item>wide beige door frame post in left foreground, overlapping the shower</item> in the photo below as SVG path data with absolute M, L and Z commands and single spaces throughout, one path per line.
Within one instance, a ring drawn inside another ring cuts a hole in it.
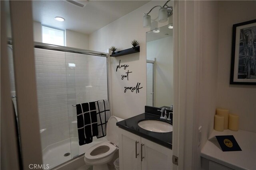
M 10 1 L 10 15 L 22 164 L 30 169 L 31 164 L 42 166 L 32 1 Z

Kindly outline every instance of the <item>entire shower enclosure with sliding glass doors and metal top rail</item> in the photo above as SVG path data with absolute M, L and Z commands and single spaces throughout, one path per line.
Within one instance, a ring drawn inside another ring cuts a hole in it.
M 108 99 L 108 54 L 35 43 L 34 57 L 42 158 L 54 168 L 106 141 L 94 137 L 92 143 L 78 145 L 75 106 Z M 14 74 L 12 79 L 15 96 Z

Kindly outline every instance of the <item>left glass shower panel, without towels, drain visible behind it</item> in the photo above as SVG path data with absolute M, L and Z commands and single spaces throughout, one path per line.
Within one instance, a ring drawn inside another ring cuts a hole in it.
M 65 52 L 34 49 L 43 163 L 50 168 L 70 155 Z

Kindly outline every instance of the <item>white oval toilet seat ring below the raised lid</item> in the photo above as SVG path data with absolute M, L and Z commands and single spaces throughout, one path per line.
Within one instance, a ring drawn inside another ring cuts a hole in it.
M 91 155 L 91 153 L 94 151 L 94 150 L 97 150 L 97 149 L 100 149 L 102 147 L 108 147 L 109 150 L 104 152 L 104 153 L 99 153 L 98 155 Z M 114 153 L 115 151 L 117 150 L 117 147 L 114 146 L 113 144 L 110 144 L 108 141 L 105 141 L 105 142 L 102 142 L 102 143 L 98 143 L 92 147 L 90 147 L 90 149 L 88 149 L 84 156 L 86 159 L 89 159 L 89 160 L 96 160 L 96 159 L 100 159 L 100 158 L 104 158 L 112 153 Z

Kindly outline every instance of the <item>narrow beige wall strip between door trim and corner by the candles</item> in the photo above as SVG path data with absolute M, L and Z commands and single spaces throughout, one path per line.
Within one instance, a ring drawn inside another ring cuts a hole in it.
M 201 1 L 199 126 L 202 145 L 214 126 L 218 74 L 218 2 Z

